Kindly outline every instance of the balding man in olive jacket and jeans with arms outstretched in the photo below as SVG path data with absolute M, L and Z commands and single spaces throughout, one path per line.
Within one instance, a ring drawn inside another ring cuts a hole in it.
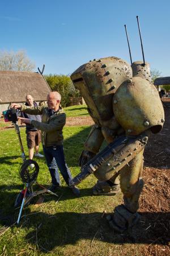
M 60 186 L 59 171 L 63 176 L 66 184 L 72 192 L 79 196 L 79 189 L 71 185 L 72 176 L 67 167 L 63 153 L 63 133 L 62 129 L 66 123 L 66 114 L 63 112 L 61 105 L 61 95 L 58 92 L 50 92 L 47 96 L 47 106 L 30 107 L 13 103 L 11 108 L 20 109 L 28 114 L 42 115 L 42 122 L 32 119 L 20 118 L 22 123 L 28 123 L 41 130 L 41 142 L 44 150 L 46 163 L 52 177 L 52 186 L 49 188 L 55 192 Z

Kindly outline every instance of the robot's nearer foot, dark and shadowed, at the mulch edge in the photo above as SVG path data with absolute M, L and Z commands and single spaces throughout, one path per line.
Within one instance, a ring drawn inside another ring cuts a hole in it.
M 114 208 L 114 214 L 112 216 L 108 215 L 106 218 L 109 222 L 109 226 L 112 229 L 123 233 L 137 224 L 139 214 L 137 212 L 129 212 L 129 210 L 127 210 L 122 204 Z

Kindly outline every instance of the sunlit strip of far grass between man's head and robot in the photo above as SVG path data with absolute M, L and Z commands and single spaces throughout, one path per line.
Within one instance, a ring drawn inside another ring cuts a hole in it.
M 64 108 L 67 117 L 78 117 L 82 115 L 89 115 L 87 105 L 75 105 Z

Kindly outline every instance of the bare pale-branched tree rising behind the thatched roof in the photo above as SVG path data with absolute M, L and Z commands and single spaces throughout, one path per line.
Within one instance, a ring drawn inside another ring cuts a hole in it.
M 24 51 L 0 51 L 0 71 L 27 71 L 32 72 L 35 64 L 29 60 Z

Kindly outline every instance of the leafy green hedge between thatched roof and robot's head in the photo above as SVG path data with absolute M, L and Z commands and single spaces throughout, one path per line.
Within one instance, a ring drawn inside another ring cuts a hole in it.
M 45 76 L 52 91 L 57 90 L 61 94 L 62 106 L 69 106 L 70 96 L 80 96 L 79 90 L 75 89 L 73 82 L 66 75 L 48 75 Z

